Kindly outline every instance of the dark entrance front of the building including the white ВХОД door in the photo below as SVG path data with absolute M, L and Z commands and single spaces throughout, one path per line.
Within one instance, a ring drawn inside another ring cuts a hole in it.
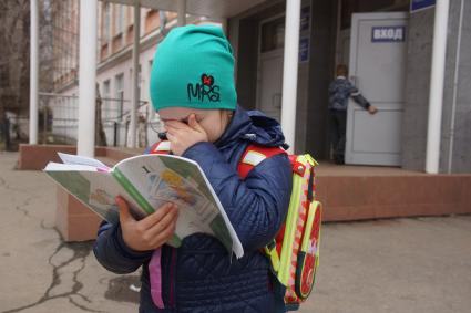
M 350 101 L 347 163 L 423 171 L 434 1 L 301 3 L 296 150 L 329 158 L 328 86 L 336 65 L 344 63 L 349 79 L 379 108 L 370 116 Z M 467 1 L 450 1 L 442 124 L 437 125 L 440 173 L 471 171 L 471 32 L 463 19 L 470 12 Z M 285 1 L 266 1 L 228 21 L 239 101 L 275 117 L 280 111 L 285 13 Z

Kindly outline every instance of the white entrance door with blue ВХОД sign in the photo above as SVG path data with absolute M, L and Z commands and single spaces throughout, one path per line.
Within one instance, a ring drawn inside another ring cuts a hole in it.
M 407 21 L 402 12 L 352 14 L 350 80 L 378 113 L 370 115 L 349 100 L 347 164 L 401 163 Z

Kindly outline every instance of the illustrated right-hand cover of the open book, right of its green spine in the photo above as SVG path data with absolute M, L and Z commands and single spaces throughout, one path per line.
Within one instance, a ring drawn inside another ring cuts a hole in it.
M 195 161 L 172 155 L 142 155 L 119 163 L 113 171 L 124 176 L 154 209 L 166 202 L 177 205 L 175 232 L 180 239 L 203 232 L 216 237 L 237 258 L 244 254 L 226 212 Z

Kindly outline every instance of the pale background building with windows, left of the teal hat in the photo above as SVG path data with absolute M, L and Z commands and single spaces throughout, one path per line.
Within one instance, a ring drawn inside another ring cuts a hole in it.
M 70 17 L 70 25 L 78 28 L 76 0 L 66 0 L 59 8 L 61 14 Z M 100 101 L 100 113 L 103 131 L 109 146 L 129 146 L 130 118 L 132 107 L 132 45 L 134 36 L 134 8 L 106 1 L 99 2 L 98 27 L 98 66 L 96 87 Z M 76 14 L 74 13 L 76 12 Z M 188 17 L 191 23 L 216 23 L 208 19 Z M 217 23 L 216 23 L 217 24 Z M 69 25 L 69 27 L 70 27 Z M 146 147 L 158 139 L 157 132 L 162 131 L 158 116 L 150 103 L 149 80 L 152 62 L 157 43 L 170 29 L 176 25 L 175 12 L 163 12 L 154 9 L 141 8 L 140 55 L 139 55 L 139 113 L 137 113 L 137 147 Z M 59 28 L 59 32 L 62 29 Z M 59 50 L 69 44 L 78 50 L 78 42 L 58 43 Z M 58 54 L 61 54 L 59 51 Z M 66 69 L 57 73 L 54 88 L 58 96 L 50 101 L 53 112 L 53 132 L 74 143 L 78 137 L 78 60 L 70 60 L 69 55 L 58 56 L 61 63 L 74 66 L 59 66 Z M 71 63 L 75 61 L 75 63 Z

